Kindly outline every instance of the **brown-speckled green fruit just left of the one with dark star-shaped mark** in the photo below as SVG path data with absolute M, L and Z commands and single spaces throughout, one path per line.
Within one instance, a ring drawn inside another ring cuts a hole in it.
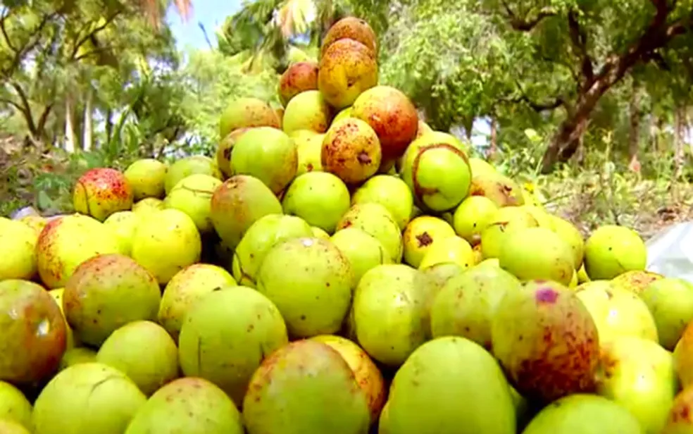
M 382 243 L 392 262 L 399 263 L 402 259 L 402 235 L 392 214 L 385 206 L 375 203 L 356 204 L 344 213 L 337 223 L 337 230 L 358 228 L 375 237 Z

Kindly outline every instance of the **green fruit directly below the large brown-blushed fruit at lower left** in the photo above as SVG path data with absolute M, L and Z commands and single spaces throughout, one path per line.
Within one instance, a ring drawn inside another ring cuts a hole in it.
M 132 321 L 113 331 L 96 361 L 124 373 L 150 396 L 178 376 L 178 349 L 161 325 Z

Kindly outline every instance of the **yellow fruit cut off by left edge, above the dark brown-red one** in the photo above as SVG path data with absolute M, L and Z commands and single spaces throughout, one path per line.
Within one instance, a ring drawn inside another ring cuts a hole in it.
M 31 279 L 37 273 L 38 235 L 20 221 L 0 222 L 0 280 Z

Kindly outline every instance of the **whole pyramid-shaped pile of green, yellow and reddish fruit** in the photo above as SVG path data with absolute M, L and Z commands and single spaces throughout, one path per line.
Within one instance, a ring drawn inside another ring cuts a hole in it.
M 0 219 L 0 433 L 693 433 L 693 285 L 431 130 L 376 55 L 344 18 L 216 161 Z

